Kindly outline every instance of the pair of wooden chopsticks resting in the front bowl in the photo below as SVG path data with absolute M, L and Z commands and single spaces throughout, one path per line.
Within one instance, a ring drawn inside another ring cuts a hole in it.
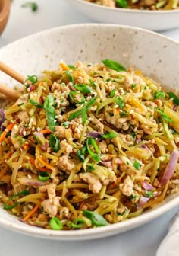
M 24 81 L 25 81 L 24 76 L 20 75 L 18 72 L 16 72 L 14 69 L 11 69 L 11 67 L 7 66 L 3 62 L 0 62 L 0 71 L 11 76 L 11 78 L 14 78 L 15 80 L 17 80 L 17 82 L 24 84 Z M 2 85 L 1 83 L 0 83 L 0 93 L 5 95 L 5 97 L 7 98 L 11 98 L 12 100 L 17 100 L 17 98 L 19 98 L 17 91 L 7 87 L 6 85 Z

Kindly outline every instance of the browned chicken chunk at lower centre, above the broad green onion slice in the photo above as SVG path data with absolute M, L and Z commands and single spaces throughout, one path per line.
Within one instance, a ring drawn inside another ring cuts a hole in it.
M 86 172 L 80 174 L 80 178 L 89 184 L 89 190 L 91 190 L 93 193 L 99 193 L 99 191 L 102 189 L 102 184 L 96 174 Z

